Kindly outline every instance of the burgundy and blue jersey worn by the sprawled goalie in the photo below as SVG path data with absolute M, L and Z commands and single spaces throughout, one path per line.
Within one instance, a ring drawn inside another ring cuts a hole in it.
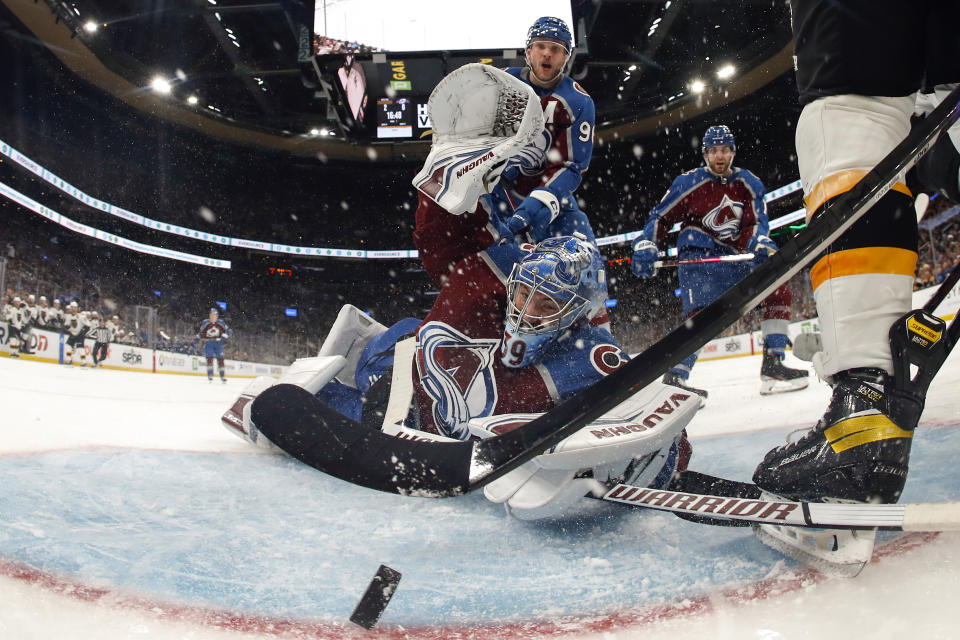
M 414 239 L 424 268 L 441 285 L 416 332 L 413 378 L 421 429 L 466 439 L 470 418 L 546 411 L 628 360 L 601 310 L 537 364 L 505 366 L 500 347 L 507 279 L 532 247 L 500 237 L 483 207 L 453 216 L 429 198 L 419 199 Z

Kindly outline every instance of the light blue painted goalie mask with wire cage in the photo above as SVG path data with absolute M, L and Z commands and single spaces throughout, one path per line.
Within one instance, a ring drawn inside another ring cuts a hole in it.
M 603 257 L 580 233 L 544 240 L 513 266 L 500 358 L 508 367 L 536 362 L 551 342 L 602 309 Z

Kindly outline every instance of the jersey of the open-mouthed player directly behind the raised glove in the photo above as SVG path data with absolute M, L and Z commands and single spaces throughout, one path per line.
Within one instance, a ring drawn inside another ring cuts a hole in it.
M 530 191 L 543 187 L 557 197 L 561 208 L 576 208 L 573 192 L 593 155 L 593 99 L 569 76 L 553 89 L 543 89 L 530 82 L 528 67 L 509 67 L 506 72 L 529 84 L 540 97 L 549 146 L 546 165 L 539 174 L 521 175 L 513 184 L 498 185 L 494 199 L 507 203 L 512 212 Z

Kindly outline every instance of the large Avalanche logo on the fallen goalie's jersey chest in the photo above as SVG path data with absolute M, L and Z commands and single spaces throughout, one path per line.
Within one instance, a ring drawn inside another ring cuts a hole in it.
M 499 345 L 497 339 L 471 339 L 443 322 L 429 322 L 417 332 L 417 373 L 444 435 L 465 440 L 470 418 L 493 411 L 493 361 Z

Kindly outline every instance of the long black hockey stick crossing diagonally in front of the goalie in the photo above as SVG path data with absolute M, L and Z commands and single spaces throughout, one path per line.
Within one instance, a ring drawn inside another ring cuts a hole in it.
M 253 403 L 253 421 L 290 455 L 365 487 L 434 497 L 481 487 L 659 378 L 800 271 L 885 195 L 958 119 L 958 102 L 960 89 L 955 89 L 853 189 L 828 203 L 804 231 L 715 302 L 617 371 L 521 428 L 473 442 L 399 440 L 337 414 L 292 385 L 261 394 Z

